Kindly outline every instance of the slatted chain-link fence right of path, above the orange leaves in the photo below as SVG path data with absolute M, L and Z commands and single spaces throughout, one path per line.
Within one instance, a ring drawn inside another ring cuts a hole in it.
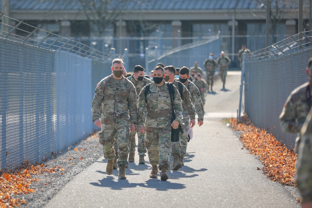
M 308 81 L 305 68 L 312 56 L 308 34 L 246 54 L 245 112 L 255 126 L 272 132 L 289 149 L 294 148 L 296 134 L 282 132 L 279 115 L 290 92 Z

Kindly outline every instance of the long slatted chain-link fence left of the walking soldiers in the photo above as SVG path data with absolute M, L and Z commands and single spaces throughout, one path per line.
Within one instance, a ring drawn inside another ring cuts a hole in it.
M 0 169 L 41 162 L 97 128 L 94 90 L 111 73 L 107 53 L 55 34 L 41 44 L 51 40 L 15 29 L 0 35 Z

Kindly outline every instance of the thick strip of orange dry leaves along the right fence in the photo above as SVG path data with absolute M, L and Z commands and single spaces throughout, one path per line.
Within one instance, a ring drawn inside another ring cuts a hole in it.
M 296 186 L 294 176 L 297 156 L 293 150 L 288 150 L 272 134 L 253 126 L 247 115 L 241 117 L 241 123 L 231 119 L 230 125 L 234 130 L 241 131 L 240 140 L 246 149 L 259 156 L 264 165 L 261 170 L 268 178 L 284 185 Z

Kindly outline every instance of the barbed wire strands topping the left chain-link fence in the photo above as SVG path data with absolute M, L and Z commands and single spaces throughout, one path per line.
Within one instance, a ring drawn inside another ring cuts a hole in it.
M 110 58 L 115 52 L 115 48 L 110 48 L 107 51 L 99 51 L 95 48 L 82 44 L 81 42 L 68 39 L 52 33 L 51 31 L 43 30 L 39 27 L 34 27 L 25 23 L 23 20 L 19 21 L 12 17 L 8 17 L 3 13 L 0 13 L 0 17 L 10 19 L 15 23 L 15 26 L 11 26 L 1 22 L 1 34 L 0 37 L 12 39 L 15 41 L 27 42 L 35 46 L 40 46 L 56 51 L 66 51 L 75 53 L 77 55 L 92 58 L 99 61 L 105 61 Z M 20 28 L 21 25 L 27 26 L 26 28 L 32 28 L 32 31 L 26 31 Z M 5 28 L 5 29 L 3 29 Z M 18 35 L 16 31 L 27 35 Z M 46 33 L 46 36 L 40 35 L 40 33 Z

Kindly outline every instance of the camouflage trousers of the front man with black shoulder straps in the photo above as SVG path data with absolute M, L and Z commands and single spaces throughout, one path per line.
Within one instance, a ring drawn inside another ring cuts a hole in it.
M 158 165 L 161 170 L 162 167 L 170 169 L 170 141 L 171 140 L 171 126 L 165 128 L 145 128 L 144 144 L 149 155 L 149 163 L 151 165 Z

